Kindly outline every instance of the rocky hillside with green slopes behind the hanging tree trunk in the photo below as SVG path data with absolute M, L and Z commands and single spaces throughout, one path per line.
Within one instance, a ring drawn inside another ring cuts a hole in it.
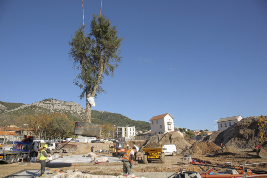
M 1 103 L 0 103 L 1 104 Z M 18 103 L 17 103 L 18 104 Z M 20 103 L 22 104 L 22 103 Z M 4 104 L 0 105 L 2 113 L 12 113 L 16 115 L 33 115 L 33 114 L 45 114 L 45 113 L 64 113 L 68 118 L 74 121 L 83 121 L 85 115 L 85 109 L 75 102 L 60 101 L 56 99 L 45 99 L 33 104 L 17 105 L 15 109 L 9 110 Z M 16 103 L 15 103 L 16 105 Z M 15 105 L 13 107 L 15 107 Z M 131 120 L 126 116 L 116 113 L 110 113 L 106 111 L 91 111 L 92 123 L 106 124 L 110 123 L 116 126 L 131 125 L 136 126 L 137 129 L 149 130 L 150 123 L 145 121 Z

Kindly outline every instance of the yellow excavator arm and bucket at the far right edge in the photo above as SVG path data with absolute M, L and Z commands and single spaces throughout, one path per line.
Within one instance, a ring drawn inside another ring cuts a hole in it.
M 255 133 L 256 153 L 257 156 L 261 158 L 267 158 L 267 152 L 261 147 L 264 133 L 267 133 L 267 121 L 264 120 L 261 115 L 258 117 L 258 126 Z

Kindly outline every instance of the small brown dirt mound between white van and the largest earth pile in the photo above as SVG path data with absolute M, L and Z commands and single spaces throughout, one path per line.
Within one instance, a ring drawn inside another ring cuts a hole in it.
M 215 151 L 221 149 L 219 146 L 217 146 L 216 144 L 214 144 L 213 142 L 210 143 L 206 143 L 206 142 L 198 142 L 196 144 L 194 144 L 189 152 L 192 155 L 201 155 L 201 154 L 207 154 L 207 153 L 214 153 Z

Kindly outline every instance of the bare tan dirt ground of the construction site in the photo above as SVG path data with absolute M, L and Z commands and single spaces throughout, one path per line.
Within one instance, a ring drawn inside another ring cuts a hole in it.
M 78 155 L 78 154 L 86 154 L 90 151 L 91 146 L 94 146 L 94 152 L 97 155 L 104 155 L 111 157 L 112 154 L 108 152 L 100 152 L 97 151 L 99 149 L 108 149 L 109 143 L 78 143 L 78 149 L 72 153 L 66 153 L 64 156 L 68 155 Z M 182 162 L 182 157 L 185 155 L 176 155 L 176 156 L 166 156 L 166 162 L 160 163 L 160 161 L 152 161 L 152 163 L 144 164 L 142 161 L 137 161 L 136 164 L 132 168 L 133 174 L 135 172 L 176 172 L 182 169 L 190 170 L 190 171 L 198 171 L 199 173 L 203 172 L 203 169 L 206 170 L 207 166 L 201 166 L 201 169 L 198 165 L 192 165 L 188 163 L 177 163 Z M 143 153 L 138 152 L 138 157 L 141 159 L 143 157 Z M 241 151 L 241 154 L 210 154 L 210 153 L 202 153 L 202 154 L 194 154 L 192 155 L 192 159 L 195 159 L 198 162 L 205 162 L 210 165 L 219 165 L 219 166 L 239 166 L 243 164 L 243 162 L 247 163 L 257 163 L 257 162 L 266 162 L 266 159 L 257 158 L 256 153 L 254 151 Z M 68 159 L 67 159 L 68 160 Z M 231 162 L 232 165 L 226 164 L 226 162 Z M 20 163 L 13 164 L 5 164 L 0 163 L 0 177 L 4 177 L 13 173 L 16 173 L 21 170 L 38 170 L 40 169 L 40 163 L 38 161 L 30 163 L 24 162 L 27 165 L 20 165 Z M 236 165 L 235 165 L 236 164 Z M 257 164 L 257 165 L 249 165 L 246 166 L 251 170 L 262 170 L 267 171 L 267 164 Z M 66 161 L 66 163 L 47 163 L 46 169 L 59 168 L 60 170 L 67 171 L 68 169 L 78 169 L 78 171 L 88 170 L 92 174 L 98 175 L 120 175 L 122 173 L 122 162 L 113 161 L 107 163 L 71 163 Z M 211 168 L 211 167 L 210 167 Z M 215 167 L 213 172 L 217 171 L 225 171 L 225 168 Z M 49 175 L 47 174 L 47 177 Z

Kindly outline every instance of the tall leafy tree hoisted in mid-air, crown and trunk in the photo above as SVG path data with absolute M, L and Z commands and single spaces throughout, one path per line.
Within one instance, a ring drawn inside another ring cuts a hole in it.
M 82 89 L 80 99 L 105 92 L 101 87 L 104 75 L 111 75 L 121 62 L 120 42 L 116 27 L 103 15 L 93 15 L 90 34 L 83 35 L 84 26 L 75 31 L 69 45 L 70 60 L 80 72 L 74 84 Z M 85 122 L 91 123 L 91 104 L 86 102 Z

